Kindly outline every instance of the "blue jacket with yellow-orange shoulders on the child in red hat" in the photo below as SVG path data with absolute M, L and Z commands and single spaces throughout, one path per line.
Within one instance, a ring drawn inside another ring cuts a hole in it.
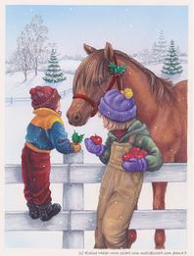
M 73 146 L 60 115 L 52 109 L 39 108 L 26 131 L 25 140 L 41 150 L 56 148 L 63 154 L 73 153 Z

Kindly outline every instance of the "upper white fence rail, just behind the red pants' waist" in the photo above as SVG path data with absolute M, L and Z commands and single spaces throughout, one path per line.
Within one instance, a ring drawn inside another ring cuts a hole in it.
M 164 164 L 157 172 L 144 174 L 144 182 L 185 182 L 186 164 Z M 21 165 L 6 165 L 6 183 L 22 183 Z M 52 183 L 99 183 L 105 172 L 101 164 L 56 164 L 52 165 Z

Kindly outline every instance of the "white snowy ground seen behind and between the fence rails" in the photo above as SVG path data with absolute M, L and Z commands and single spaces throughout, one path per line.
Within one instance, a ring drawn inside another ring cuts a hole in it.
M 79 62 L 72 62 L 67 64 L 67 69 L 73 71 Z M 63 64 L 65 67 L 65 63 Z M 161 67 L 149 67 L 156 75 L 159 75 Z M 154 68 L 154 69 L 153 69 Z M 187 77 L 187 69 L 184 67 L 185 72 L 180 77 L 184 79 Z M 28 77 L 26 82 L 23 82 L 21 73 L 13 76 L 7 75 L 6 77 L 6 97 L 22 97 L 28 96 L 28 90 L 37 84 L 43 84 L 41 80 L 43 73 L 39 73 L 37 77 L 32 74 Z M 59 87 L 59 91 L 65 88 L 70 88 L 73 82 L 73 75 L 67 75 L 65 80 Z M 72 94 L 67 95 L 62 100 L 63 120 L 65 122 L 66 130 L 69 136 L 73 134 L 74 128 L 68 124 L 66 118 L 66 111 L 72 102 Z M 6 134 L 5 134 L 5 162 L 7 164 L 18 164 L 21 162 L 21 150 L 24 146 L 25 128 L 32 118 L 30 102 L 19 102 L 14 104 L 6 104 Z M 87 125 L 81 128 L 75 128 L 79 133 L 84 133 L 85 137 L 98 131 L 98 134 L 105 139 L 106 131 L 102 127 L 102 122 L 98 117 L 89 120 Z M 98 158 L 84 150 L 85 163 L 100 163 Z M 62 163 L 62 155 L 53 150 L 52 162 Z M 62 202 L 62 185 L 52 184 L 53 201 Z M 98 200 L 99 184 L 85 185 L 85 209 L 96 210 Z M 26 210 L 23 185 L 6 185 L 6 210 Z M 14 200 L 13 194 L 15 195 Z M 167 208 L 181 209 L 186 208 L 186 184 L 184 183 L 171 183 L 167 192 Z M 144 184 L 139 200 L 139 209 L 152 208 L 152 189 L 151 184 Z M 133 249 L 152 249 L 154 230 L 142 230 L 138 232 L 137 242 L 134 244 Z M 30 240 L 30 242 L 29 242 Z M 92 231 L 87 231 L 85 234 L 85 242 L 87 248 L 92 248 L 94 243 L 94 235 Z M 47 247 L 57 248 L 61 247 L 62 232 L 7 232 L 6 233 L 6 246 L 7 247 Z M 185 249 L 186 248 L 186 230 L 167 230 L 167 248 L 168 249 Z

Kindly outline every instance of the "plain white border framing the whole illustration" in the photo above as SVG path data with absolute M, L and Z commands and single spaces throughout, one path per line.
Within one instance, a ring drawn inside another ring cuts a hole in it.
M 71 1 L 60 1 L 60 0 L 1 0 L 0 2 L 0 255 L 40 255 L 42 253 L 47 255 L 79 255 L 82 250 L 73 250 L 73 249 L 5 249 L 4 248 L 4 118 L 5 118 L 5 109 L 4 109 L 4 84 L 5 84 L 5 6 L 6 5 L 187 5 L 189 7 L 189 69 L 188 69 L 188 81 L 189 81 L 189 89 L 188 89 L 188 118 L 189 118 L 189 126 L 188 126 L 188 247 L 187 247 L 187 256 L 194 256 L 193 250 L 193 199 L 194 199 L 194 152 L 193 152 L 193 111 L 194 111 L 194 80 L 193 80 L 193 1 L 192 0 L 112 0 L 112 1 L 103 1 L 103 0 L 92 0 L 92 1 L 82 1 L 82 0 L 71 0 Z M 10 117 L 12 118 L 12 117 Z M 13 198 L 14 200 L 14 198 Z M 91 251 L 91 250 L 86 250 Z M 96 250 L 94 250 L 96 251 Z M 93 251 L 93 252 L 94 252 Z M 111 252 L 112 250 L 106 250 Z M 120 250 L 121 251 L 121 250 Z M 165 250 L 166 251 L 166 250 Z M 164 251 L 164 252 L 165 252 Z M 114 250 L 114 252 L 116 252 Z M 140 251 L 139 251 L 140 252 Z M 153 250 L 154 252 L 154 250 Z M 159 252 L 159 251 L 156 251 Z M 83 254 L 84 255 L 84 254 Z M 91 254 L 92 255 L 92 254 Z M 127 254 L 126 254 L 127 255 Z M 154 255 L 154 254 L 153 254 Z M 157 254 L 156 254 L 157 255 Z M 161 254 L 162 255 L 162 254 Z M 164 254 L 165 255 L 165 254 Z M 172 254 L 171 254 L 172 255 Z

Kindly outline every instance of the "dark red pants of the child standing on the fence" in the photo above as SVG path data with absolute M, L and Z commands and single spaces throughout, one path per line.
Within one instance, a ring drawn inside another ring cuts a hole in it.
M 22 154 L 24 197 L 27 203 L 37 205 L 51 202 L 50 154 L 35 152 L 26 145 Z

